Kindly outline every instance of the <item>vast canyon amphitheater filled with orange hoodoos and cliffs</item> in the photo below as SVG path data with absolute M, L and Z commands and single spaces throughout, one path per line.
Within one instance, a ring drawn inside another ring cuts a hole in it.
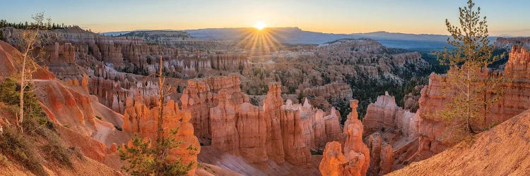
M 0 31 L 6 41 L 0 42 L 4 80 L 18 70 L 12 59 L 23 30 Z M 458 163 L 490 151 L 490 158 L 508 155 L 507 144 L 521 146 L 521 153 L 528 146 L 522 139 L 527 130 L 517 130 L 526 129 L 530 108 L 530 52 L 517 45 L 524 39 L 497 39 L 497 47 L 510 47 L 509 60 L 502 72 L 487 74 L 505 75 L 510 82 L 503 84 L 505 95 L 486 113 L 485 122 L 500 125 L 479 134 L 471 148 L 459 149 L 462 144 L 442 136 L 447 125 L 436 115 L 452 99 L 442 95 L 444 75 L 432 73 L 427 85 L 414 87 L 420 95 L 409 99 L 363 87 L 361 83 L 370 82 L 399 86 L 430 71 L 420 53 L 387 48 L 372 39 L 251 54 L 237 42 L 206 41 L 187 32 L 111 37 L 67 27 L 44 30 L 40 36 L 47 40 L 42 43 L 45 61 L 33 75 L 32 83 L 39 87 L 35 96 L 59 128 L 61 141 L 89 158 L 76 162 L 102 168 L 102 175 L 121 174 L 117 150 L 129 145 L 132 136 L 154 139 L 160 107 L 164 134 L 169 137 L 170 130 L 178 129 L 171 137 L 182 142 L 169 151 L 171 156 L 201 165 L 188 175 L 469 174 L 459 171 L 466 168 Z M 160 57 L 167 82 L 175 87 L 163 105 L 158 89 L 164 85 L 150 76 L 159 69 Z M 360 96 L 366 92 L 370 96 Z M 399 107 L 399 101 L 408 107 L 417 104 L 418 110 Z M 486 144 L 498 140 L 506 142 Z M 188 153 L 188 146 L 196 152 Z M 494 153 L 494 147 L 503 150 Z M 448 157 L 456 158 L 455 163 L 444 159 Z M 526 161 L 523 156 L 509 158 Z M 440 164 L 450 170 L 428 169 Z M 527 163 L 502 166 L 517 164 Z M 529 172 L 495 170 L 500 175 Z M 0 169 L 1 174 L 18 172 L 23 171 Z

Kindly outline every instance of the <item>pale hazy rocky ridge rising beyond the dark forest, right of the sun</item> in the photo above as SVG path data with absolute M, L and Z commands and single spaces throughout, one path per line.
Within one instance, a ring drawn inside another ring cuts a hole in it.
M 330 66 L 338 73 L 327 77 L 334 81 L 344 77 L 383 76 L 401 82 L 396 70 L 414 73 L 428 67 L 418 52 L 391 51 L 372 39 L 339 39 L 321 44 L 315 53 L 332 63 Z M 405 65 L 414 68 L 408 70 Z

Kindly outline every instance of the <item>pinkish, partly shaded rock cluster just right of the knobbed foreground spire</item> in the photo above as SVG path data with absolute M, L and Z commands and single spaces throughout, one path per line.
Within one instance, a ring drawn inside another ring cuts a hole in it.
M 363 125 L 370 149 L 368 175 L 384 175 L 411 162 L 418 146 L 418 115 L 398 107 L 394 96 L 387 93 L 370 103 Z

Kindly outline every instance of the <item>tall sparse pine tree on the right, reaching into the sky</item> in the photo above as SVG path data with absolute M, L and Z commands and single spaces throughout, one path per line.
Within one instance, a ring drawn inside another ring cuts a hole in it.
M 469 0 L 467 6 L 459 8 L 459 26 L 445 20 L 451 34 L 444 48 L 437 52 L 441 65 L 449 65 L 442 94 L 453 97 L 444 104 L 438 115 L 449 127 L 445 134 L 456 142 L 472 139 L 473 134 L 485 130 L 489 107 L 504 94 L 505 78 L 488 70 L 488 65 L 500 56 L 493 56 L 494 46 L 489 45 L 486 18 L 481 18 L 481 8 L 474 8 Z

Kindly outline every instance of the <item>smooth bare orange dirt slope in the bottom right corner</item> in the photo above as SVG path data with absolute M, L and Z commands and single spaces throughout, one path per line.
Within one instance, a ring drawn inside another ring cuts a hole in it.
M 530 110 L 389 175 L 530 175 Z

